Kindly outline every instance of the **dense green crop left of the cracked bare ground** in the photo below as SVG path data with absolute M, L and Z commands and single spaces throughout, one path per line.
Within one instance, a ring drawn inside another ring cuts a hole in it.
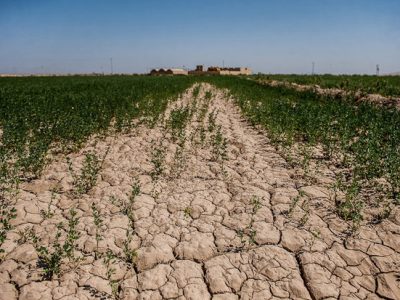
M 49 149 L 71 151 L 87 138 L 154 125 L 168 104 L 192 85 L 191 77 L 27 77 L 0 79 L 0 170 L 40 174 Z M 136 123 L 135 123 L 136 122 Z

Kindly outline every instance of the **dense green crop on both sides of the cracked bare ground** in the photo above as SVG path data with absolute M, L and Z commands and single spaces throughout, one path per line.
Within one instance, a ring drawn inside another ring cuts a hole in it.
M 354 84 L 368 85 L 374 77 L 355 78 Z M 264 126 L 275 144 L 320 145 L 325 159 L 335 158 L 350 170 L 353 185 L 384 178 L 390 183 L 389 197 L 398 200 L 399 111 L 218 76 L 2 78 L 1 182 L 7 182 L 11 169 L 21 178 L 39 175 L 50 149 L 78 149 L 111 125 L 122 130 L 133 126 L 133 120 L 155 124 L 168 100 L 196 81 L 227 88 L 249 122 Z

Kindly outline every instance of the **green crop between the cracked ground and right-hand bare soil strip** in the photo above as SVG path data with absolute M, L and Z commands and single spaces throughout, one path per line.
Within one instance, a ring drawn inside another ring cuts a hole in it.
M 319 159 L 340 170 L 332 188 L 346 195 L 344 202 L 336 203 L 343 219 L 360 221 L 360 211 L 371 193 L 384 193 L 384 199 L 400 202 L 398 110 L 243 78 L 207 80 L 229 89 L 247 119 L 253 125 L 262 125 L 280 149 L 303 145 L 301 162 L 307 164 L 311 149 L 321 147 Z

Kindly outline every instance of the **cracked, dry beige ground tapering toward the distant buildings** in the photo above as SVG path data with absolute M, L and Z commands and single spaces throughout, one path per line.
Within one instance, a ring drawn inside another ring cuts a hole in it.
M 349 234 L 329 168 L 306 185 L 223 91 L 193 90 L 154 128 L 93 138 L 20 187 L 0 299 L 400 299 L 398 209 Z M 174 139 L 177 108 L 191 113 Z M 87 153 L 101 169 L 77 193 Z M 63 243 L 71 209 L 73 256 L 45 280 L 38 244 L 54 252 L 59 222 Z

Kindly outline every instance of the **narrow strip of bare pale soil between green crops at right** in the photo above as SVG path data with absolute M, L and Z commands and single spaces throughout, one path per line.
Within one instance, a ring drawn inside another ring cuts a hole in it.
M 326 95 L 332 97 L 344 97 L 347 95 L 351 96 L 354 95 L 355 99 L 359 102 L 366 101 L 380 106 L 395 107 L 396 109 L 400 109 L 400 98 L 398 97 L 385 97 L 380 94 L 363 95 L 359 91 L 356 93 L 352 93 L 338 88 L 321 88 L 319 85 L 304 85 L 294 82 L 283 82 L 278 80 L 268 80 L 268 81 L 261 80 L 260 82 L 270 86 L 287 86 L 290 88 L 294 88 L 297 91 L 313 91 L 319 95 Z

